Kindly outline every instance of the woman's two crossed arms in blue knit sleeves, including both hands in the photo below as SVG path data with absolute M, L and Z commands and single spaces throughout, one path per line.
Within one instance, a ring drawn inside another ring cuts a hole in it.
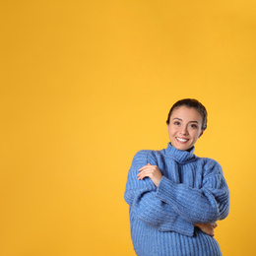
M 204 191 L 175 184 L 162 176 L 157 165 L 148 164 L 147 155 L 146 152 L 138 153 L 128 174 L 125 200 L 131 207 L 132 216 L 162 231 L 193 235 L 194 226 L 198 226 L 214 235 L 216 222 L 228 213 L 226 187 L 219 188 L 213 177 L 205 182 Z M 195 211 L 191 210 L 193 200 L 198 206 Z

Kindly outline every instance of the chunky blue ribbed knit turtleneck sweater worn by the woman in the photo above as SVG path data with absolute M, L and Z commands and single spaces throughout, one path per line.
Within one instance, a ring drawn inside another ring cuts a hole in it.
M 168 144 L 161 151 L 140 151 L 132 162 L 125 190 L 131 236 L 138 256 L 219 256 L 216 239 L 194 224 L 228 215 L 229 192 L 221 165 Z M 138 180 L 139 168 L 158 165 L 158 187 Z

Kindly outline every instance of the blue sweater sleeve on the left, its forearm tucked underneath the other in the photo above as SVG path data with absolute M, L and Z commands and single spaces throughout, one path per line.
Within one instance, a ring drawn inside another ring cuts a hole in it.
M 194 224 L 185 221 L 172 207 L 157 198 L 157 187 L 150 178 L 138 180 L 139 168 L 146 165 L 149 151 L 137 153 L 128 173 L 125 201 L 130 205 L 133 218 L 161 231 L 176 231 L 192 236 Z

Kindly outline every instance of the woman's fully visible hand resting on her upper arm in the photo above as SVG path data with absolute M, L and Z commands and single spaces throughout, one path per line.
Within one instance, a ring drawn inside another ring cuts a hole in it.
M 162 174 L 157 165 L 152 165 L 148 163 L 147 165 L 139 169 L 140 173 L 137 175 L 138 179 L 144 179 L 145 177 L 150 177 L 153 183 L 158 187 L 160 184 L 160 179 Z

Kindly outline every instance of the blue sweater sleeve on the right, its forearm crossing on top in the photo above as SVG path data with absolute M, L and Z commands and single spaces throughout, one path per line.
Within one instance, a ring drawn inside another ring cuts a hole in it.
M 156 197 L 192 224 L 223 220 L 229 211 L 229 191 L 221 165 L 208 160 L 200 189 L 162 177 Z

